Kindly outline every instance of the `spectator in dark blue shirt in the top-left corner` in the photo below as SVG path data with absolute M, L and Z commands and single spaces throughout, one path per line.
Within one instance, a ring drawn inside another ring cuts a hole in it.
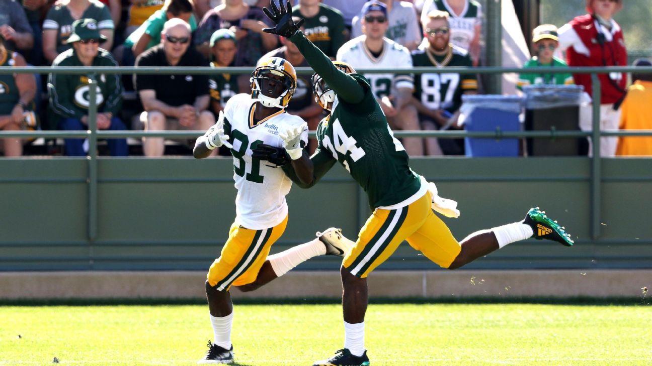
M 31 53 L 34 34 L 20 3 L 0 0 L 0 35 L 5 37 L 5 48 L 18 51 L 25 57 Z

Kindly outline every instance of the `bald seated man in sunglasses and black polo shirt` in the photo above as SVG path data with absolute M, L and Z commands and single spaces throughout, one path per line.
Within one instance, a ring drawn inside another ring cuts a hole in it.
M 198 51 L 190 47 L 190 25 L 179 18 L 166 21 L 161 43 L 147 49 L 136 59 L 136 66 L 209 66 Z M 145 111 L 140 120 L 146 131 L 208 130 L 215 124 L 208 111 L 208 76 L 134 75 L 134 85 Z M 162 156 L 162 137 L 143 138 L 145 156 Z

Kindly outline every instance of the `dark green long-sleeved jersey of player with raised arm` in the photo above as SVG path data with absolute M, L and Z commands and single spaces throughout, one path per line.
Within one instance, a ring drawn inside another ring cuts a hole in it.
M 423 191 L 421 179 L 408 165 L 408 154 L 387 124 L 363 76 L 348 75 L 310 44 L 302 33 L 291 37 L 310 66 L 333 87 L 331 115 L 317 129 L 318 148 L 310 158 L 315 173 L 340 162 L 366 192 L 372 209 L 408 201 Z M 318 178 L 317 178 L 318 179 Z

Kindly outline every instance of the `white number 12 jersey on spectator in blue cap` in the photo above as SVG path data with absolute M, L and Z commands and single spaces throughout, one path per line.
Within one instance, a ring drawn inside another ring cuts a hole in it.
M 385 44 L 378 57 L 374 57 L 364 44 L 365 35 L 346 42 L 337 51 L 336 59 L 350 64 L 353 68 L 412 68 L 412 57 L 407 48 L 389 38 L 383 38 Z M 394 74 L 364 74 L 371 85 L 376 98 L 389 96 L 393 89 L 408 87 L 414 89 L 414 81 L 409 70 Z

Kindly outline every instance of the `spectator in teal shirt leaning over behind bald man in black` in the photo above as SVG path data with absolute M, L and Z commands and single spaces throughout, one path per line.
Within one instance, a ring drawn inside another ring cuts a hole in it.
M 143 25 L 126 38 L 123 65 L 133 66 L 136 57 L 160 44 L 163 25 L 172 18 L 179 18 L 189 23 L 190 32 L 197 29 L 190 0 L 166 0 L 162 9 L 156 10 Z

